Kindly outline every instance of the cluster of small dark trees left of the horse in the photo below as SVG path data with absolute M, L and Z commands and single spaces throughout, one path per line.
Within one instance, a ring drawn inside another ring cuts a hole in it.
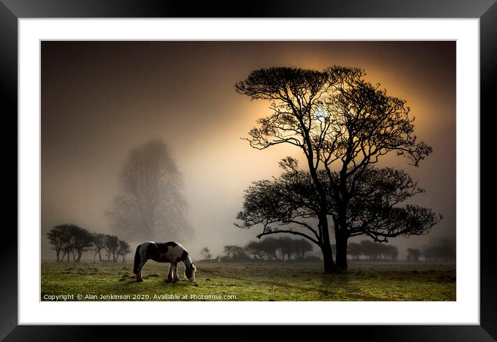
M 102 252 L 105 252 L 109 261 L 111 257 L 114 262 L 121 257 L 125 262 L 126 255 L 131 253 L 130 244 L 117 236 L 92 233 L 73 224 L 56 225 L 47 233 L 47 237 L 51 249 L 56 251 L 57 262 L 64 261 L 66 255 L 67 262 L 70 261 L 71 256 L 74 262 L 79 262 L 83 253 L 90 250 L 94 251 L 94 261 L 96 255 L 102 261 Z

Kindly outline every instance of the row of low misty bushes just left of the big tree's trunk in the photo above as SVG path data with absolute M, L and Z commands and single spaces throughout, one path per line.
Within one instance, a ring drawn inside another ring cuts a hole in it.
M 304 260 L 305 253 L 312 250 L 312 244 L 305 239 L 290 237 L 267 237 L 260 241 L 250 241 L 245 246 L 224 246 L 224 257 L 221 261 L 289 261 Z M 314 259 L 316 259 L 314 257 Z

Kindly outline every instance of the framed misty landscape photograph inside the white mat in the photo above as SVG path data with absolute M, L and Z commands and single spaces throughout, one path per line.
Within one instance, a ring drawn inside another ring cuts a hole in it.
M 40 300 L 455 302 L 455 40 L 42 40 Z

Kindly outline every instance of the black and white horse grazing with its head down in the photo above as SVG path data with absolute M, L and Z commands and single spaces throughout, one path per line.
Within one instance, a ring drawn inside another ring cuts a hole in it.
M 192 262 L 187 250 L 179 243 L 174 241 L 169 242 L 154 242 L 146 241 L 136 248 L 135 265 L 133 273 L 136 275 L 137 282 L 143 282 L 142 268 L 146 262 L 152 259 L 154 262 L 169 262 L 169 273 L 167 280 L 176 282 L 180 280 L 178 277 L 178 262 L 185 264 L 185 277 L 189 281 L 195 280 L 196 267 Z

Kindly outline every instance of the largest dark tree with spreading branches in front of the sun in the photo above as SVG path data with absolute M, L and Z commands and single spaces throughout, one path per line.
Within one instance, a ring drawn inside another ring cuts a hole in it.
M 374 168 L 387 153 L 403 155 L 418 166 L 432 148 L 416 142 L 414 118 L 405 101 L 366 82 L 364 75 L 362 69 L 351 67 L 323 71 L 273 67 L 252 71 L 235 85 L 239 94 L 269 101 L 271 114 L 258 119 L 258 127 L 246 138 L 249 144 L 258 149 L 296 146 L 305 157 L 306 173 L 300 174 L 296 160 L 287 157 L 280 163 L 287 171 L 283 178 L 289 174 L 308 178 L 304 189 L 292 189 L 301 194 L 298 205 L 305 214 L 298 214 L 295 201 L 291 201 L 283 205 L 291 204 L 292 214 L 279 220 L 281 203 L 268 193 L 270 188 L 280 187 L 278 180 L 256 182 L 246 192 L 244 211 L 237 216 L 242 220 L 240 226 L 262 224 L 258 237 L 285 232 L 307 238 L 321 248 L 326 273 L 346 270 L 349 237 L 365 234 L 375 241 L 387 241 L 398 235 L 423 234 L 440 219 L 427 208 L 398 207 L 421 189 L 403 171 Z M 389 176 L 389 181 L 382 182 L 378 179 L 381 175 Z M 382 185 L 379 192 L 371 187 L 375 182 Z M 262 210 L 264 206 L 266 210 Z M 271 214 L 272 210 L 278 215 Z M 334 225 L 336 264 L 328 216 Z M 303 220 L 311 217 L 317 218 L 317 227 Z M 301 228 L 273 229 L 269 224 L 277 222 Z

